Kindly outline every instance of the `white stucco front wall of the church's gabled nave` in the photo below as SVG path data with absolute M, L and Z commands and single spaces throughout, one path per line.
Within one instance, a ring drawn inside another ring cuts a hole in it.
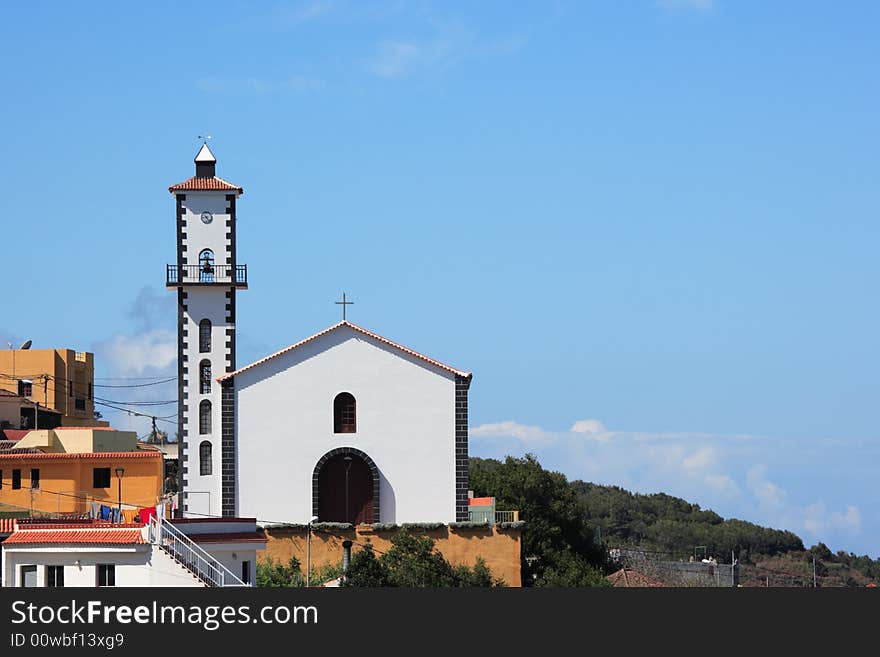
M 333 399 L 357 433 L 333 433 Z M 312 473 L 336 447 L 380 472 L 382 522 L 455 520 L 455 375 L 341 327 L 235 377 L 238 515 L 308 522 Z

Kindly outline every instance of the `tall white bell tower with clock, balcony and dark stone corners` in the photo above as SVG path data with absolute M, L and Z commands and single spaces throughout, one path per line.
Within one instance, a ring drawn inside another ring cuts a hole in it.
M 236 202 L 244 190 L 218 178 L 217 159 L 202 144 L 195 176 L 172 185 L 177 261 L 165 286 L 177 291 L 177 395 L 180 506 L 184 516 L 235 515 L 235 293 L 247 289 L 236 259 Z

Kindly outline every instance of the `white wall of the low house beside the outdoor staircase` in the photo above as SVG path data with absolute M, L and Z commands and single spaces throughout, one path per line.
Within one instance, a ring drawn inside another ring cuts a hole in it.
M 79 560 L 79 565 L 77 565 Z M 95 587 L 97 565 L 116 564 L 116 586 L 204 587 L 165 552 L 151 545 L 3 547 L 3 586 L 20 585 L 19 566 L 37 566 L 37 585 L 45 586 L 46 566 L 64 566 L 65 587 Z M 234 572 L 234 571 L 233 571 Z

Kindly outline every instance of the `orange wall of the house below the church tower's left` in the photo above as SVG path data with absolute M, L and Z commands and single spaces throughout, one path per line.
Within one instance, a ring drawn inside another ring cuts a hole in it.
M 34 458 L 36 456 L 37 458 Z M 123 508 L 152 506 L 162 490 L 162 455 L 83 455 L 47 458 L 45 455 L 0 454 L 0 504 L 44 513 L 85 513 L 91 502 L 116 506 L 117 467 L 122 478 Z M 31 468 L 40 470 L 40 487 L 31 490 Z M 110 468 L 110 487 L 93 488 L 93 469 Z M 13 490 L 12 471 L 21 470 L 21 488 Z

